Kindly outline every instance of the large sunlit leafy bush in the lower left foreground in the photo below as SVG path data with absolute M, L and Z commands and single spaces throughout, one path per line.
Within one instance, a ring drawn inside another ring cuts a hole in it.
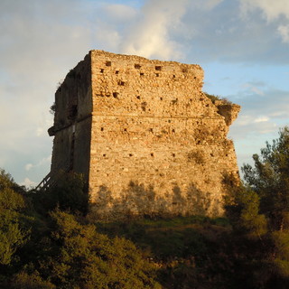
M 107 238 L 71 214 L 51 212 L 50 252 L 42 280 L 57 288 L 157 288 L 154 267 L 124 238 Z

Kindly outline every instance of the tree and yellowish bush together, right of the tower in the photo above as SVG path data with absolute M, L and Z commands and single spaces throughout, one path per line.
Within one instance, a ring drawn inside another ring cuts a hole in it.
M 254 154 L 254 167 L 242 168 L 246 187 L 235 188 L 227 200 L 234 234 L 244 244 L 240 252 L 258 276 L 257 287 L 289 286 L 289 129 L 284 127 L 273 144 Z M 255 247 L 252 259 L 247 255 Z M 244 261 L 243 260 L 243 261 Z

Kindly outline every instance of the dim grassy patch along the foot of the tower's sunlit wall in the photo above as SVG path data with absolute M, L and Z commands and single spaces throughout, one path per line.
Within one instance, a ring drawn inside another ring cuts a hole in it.
M 207 245 L 230 229 L 228 219 L 201 216 L 98 222 L 97 228 L 111 237 L 128 238 L 163 261 L 204 255 Z

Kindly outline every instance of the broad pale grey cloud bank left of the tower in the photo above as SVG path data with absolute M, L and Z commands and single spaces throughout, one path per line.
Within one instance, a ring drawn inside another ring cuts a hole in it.
M 0 1 L 0 166 L 16 182 L 27 172 L 38 181 L 49 170 L 48 163 L 37 172 L 25 165 L 51 153 L 47 129 L 57 82 L 89 51 L 77 2 Z

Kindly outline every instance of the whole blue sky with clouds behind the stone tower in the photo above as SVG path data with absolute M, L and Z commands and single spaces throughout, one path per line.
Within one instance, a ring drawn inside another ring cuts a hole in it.
M 21 184 L 50 171 L 54 92 L 92 49 L 200 64 L 242 106 L 239 165 L 289 125 L 288 0 L 1 0 L 0 27 L 0 167 Z

